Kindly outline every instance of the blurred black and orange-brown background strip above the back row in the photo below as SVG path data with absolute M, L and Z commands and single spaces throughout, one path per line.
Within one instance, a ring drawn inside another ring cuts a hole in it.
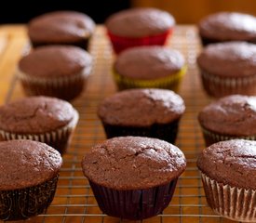
M 76 10 L 102 23 L 116 11 L 128 7 L 158 7 L 168 10 L 178 23 L 197 23 L 217 11 L 239 11 L 256 15 L 256 0 L 37 0 L 5 1 L 0 7 L 0 23 L 25 23 L 35 16 L 54 10 Z

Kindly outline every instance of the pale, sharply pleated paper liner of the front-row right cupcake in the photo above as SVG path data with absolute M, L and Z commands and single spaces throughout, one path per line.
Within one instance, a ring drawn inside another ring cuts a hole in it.
M 217 214 L 236 221 L 256 222 L 256 190 L 224 185 L 202 173 L 210 208 Z

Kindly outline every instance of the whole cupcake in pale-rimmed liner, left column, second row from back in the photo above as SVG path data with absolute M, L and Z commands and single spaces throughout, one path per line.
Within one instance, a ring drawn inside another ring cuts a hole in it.
M 18 77 L 29 96 L 71 100 L 87 83 L 92 58 L 75 46 L 41 46 L 19 61 Z

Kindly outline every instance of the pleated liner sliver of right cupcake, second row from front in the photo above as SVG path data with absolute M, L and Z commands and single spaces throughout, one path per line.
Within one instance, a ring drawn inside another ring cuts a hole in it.
M 218 134 L 212 131 L 209 131 L 201 126 L 203 136 L 205 139 L 206 146 L 210 146 L 213 143 L 219 142 L 219 141 L 225 141 L 230 140 L 234 138 L 242 138 L 242 139 L 248 139 L 248 140 L 256 140 L 256 136 L 231 136 L 231 135 L 224 135 L 224 134 Z

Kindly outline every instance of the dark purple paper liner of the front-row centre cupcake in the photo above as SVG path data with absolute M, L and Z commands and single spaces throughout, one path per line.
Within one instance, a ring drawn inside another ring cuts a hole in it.
M 177 178 L 166 185 L 146 190 L 114 190 L 89 184 L 101 211 L 108 216 L 141 220 L 160 214 L 170 202 Z

